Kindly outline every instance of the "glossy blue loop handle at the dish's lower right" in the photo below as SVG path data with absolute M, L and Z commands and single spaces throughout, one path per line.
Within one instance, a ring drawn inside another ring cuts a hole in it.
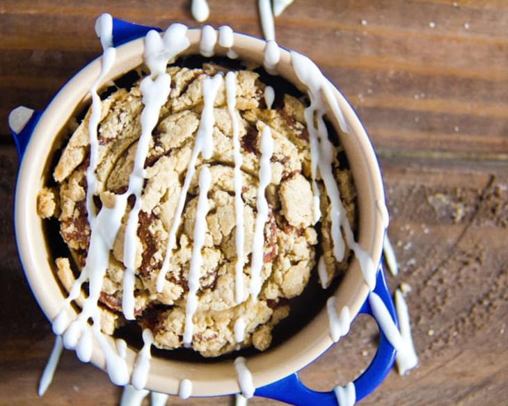
M 374 289 L 374 292 L 383 300 L 390 316 L 398 327 L 395 307 L 386 284 L 382 266 L 380 266 L 377 275 L 376 289 Z M 361 307 L 360 314 L 368 314 L 376 320 L 372 314 L 368 298 Z M 381 327 L 379 327 L 378 320 L 376 320 L 376 323 L 379 328 L 379 347 L 370 365 L 353 382 L 356 391 L 356 401 L 362 400 L 372 393 L 372 391 L 383 382 L 386 375 L 390 372 L 393 362 L 395 362 L 396 350 L 388 342 L 388 339 L 386 339 Z M 347 403 L 346 405 L 340 405 L 334 391 L 318 392 L 308 389 L 308 387 L 305 387 L 301 382 L 298 373 L 293 373 L 282 380 L 257 388 L 254 394 L 255 396 L 276 399 L 292 405 L 351 406 L 354 404 Z

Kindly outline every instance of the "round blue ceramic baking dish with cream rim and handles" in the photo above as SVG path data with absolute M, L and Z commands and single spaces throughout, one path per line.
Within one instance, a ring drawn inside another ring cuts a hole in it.
M 143 63 L 143 36 L 150 27 L 138 26 L 113 20 L 113 42 L 117 48 L 116 62 L 104 83 L 116 79 Z M 160 30 L 159 30 L 160 31 Z M 189 29 L 187 36 L 191 46 L 182 55 L 199 54 L 200 29 Z M 267 42 L 239 33 L 234 34 L 232 49 L 242 60 L 262 65 Z M 225 55 L 227 49 L 216 46 L 217 55 Z M 291 65 L 289 51 L 280 49 L 278 63 L 280 76 L 302 91 L 304 86 L 296 77 Z M 15 136 L 19 154 L 19 174 L 15 191 L 15 233 L 19 257 L 31 289 L 40 307 L 49 320 L 60 311 L 65 294 L 54 276 L 54 258 L 49 254 L 47 238 L 42 220 L 36 211 L 38 190 L 42 187 L 47 172 L 49 156 L 60 142 L 58 134 L 65 124 L 89 100 L 88 90 L 99 76 L 101 60 L 97 58 L 78 72 L 58 92 L 43 112 L 17 108 L 11 113 L 10 127 Z M 370 139 L 360 120 L 342 94 L 333 87 L 334 97 L 349 128 L 349 133 L 340 131 L 340 125 L 324 97 L 328 109 L 328 120 L 340 134 L 340 141 L 351 165 L 358 193 L 358 243 L 370 255 L 374 264 L 381 268 L 381 252 L 386 232 L 385 197 L 379 163 Z M 376 278 L 374 291 L 385 302 L 390 316 L 396 322 L 395 310 L 383 279 L 382 270 Z M 325 294 L 326 291 L 323 291 Z M 326 293 L 329 294 L 329 293 Z M 360 265 L 353 259 L 337 291 L 335 307 L 348 306 L 351 318 L 359 312 L 372 314 L 367 296 L 370 289 L 364 282 Z M 395 350 L 380 330 L 380 348 L 369 368 L 354 382 L 356 399 L 367 396 L 386 376 L 395 359 Z M 284 343 L 246 359 L 252 373 L 255 395 L 277 398 L 295 404 L 336 404 L 333 391 L 319 393 L 310 391 L 299 382 L 296 372 L 322 355 L 331 345 L 326 308 L 305 325 L 297 334 Z M 127 362 L 134 365 L 136 352 L 129 348 Z M 96 344 L 91 362 L 104 369 L 102 351 Z M 192 396 L 220 396 L 237 393 L 239 384 L 233 362 L 221 360 L 203 364 L 182 360 L 158 359 L 154 357 L 148 377 L 147 389 L 177 394 L 180 380 L 192 377 Z

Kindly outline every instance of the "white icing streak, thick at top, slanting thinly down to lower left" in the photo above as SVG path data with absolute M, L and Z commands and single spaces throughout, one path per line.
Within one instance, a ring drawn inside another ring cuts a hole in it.
M 159 275 L 157 275 L 157 291 L 161 292 L 164 287 L 164 280 L 166 279 L 166 273 L 169 268 L 169 261 L 171 257 L 171 252 L 173 251 L 173 247 L 176 242 L 176 232 L 178 227 L 180 227 L 180 222 L 182 220 L 182 212 L 184 210 L 184 204 L 186 200 L 187 191 L 189 190 L 189 186 L 191 184 L 191 179 L 196 171 L 196 159 L 198 158 L 198 154 L 201 153 L 204 159 L 210 159 L 212 157 L 212 149 L 213 149 L 213 140 L 212 140 L 212 132 L 214 129 L 214 101 L 219 90 L 219 87 L 223 83 L 222 74 L 216 74 L 213 78 L 206 78 L 203 81 L 203 111 L 201 113 L 201 120 L 198 129 L 198 133 L 196 134 L 196 138 L 194 140 L 194 147 L 191 154 L 191 159 L 189 160 L 189 165 L 187 166 L 187 171 L 185 174 L 184 185 L 182 186 L 182 191 L 180 192 L 180 196 L 178 197 L 178 204 L 175 210 L 175 216 L 173 217 L 173 224 L 168 233 L 168 245 L 166 247 L 166 256 L 164 257 L 164 262 L 162 263 L 161 270 Z

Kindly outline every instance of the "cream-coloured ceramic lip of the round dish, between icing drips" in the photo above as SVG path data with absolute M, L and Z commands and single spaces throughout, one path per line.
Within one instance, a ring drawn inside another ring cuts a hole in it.
M 187 36 L 191 46 L 182 55 L 199 54 L 200 30 L 189 29 Z M 235 33 L 234 36 L 235 45 L 232 49 L 239 54 L 239 58 L 262 65 L 266 42 L 239 33 Z M 143 38 L 118 47 L 116 62 L 103 84 L 141 65 L 143 50 Z M 227 49 L 218 44 L 215 47 L 217 56 L 224 56 L 226 51 Z M 88 90 L 100 74 L 100 67 L 101 59 L 93 60 L 58 92 L 33 129 L 19 167 L 15 193 L 17 247 L 33 294 L 49 320 L 56 317 L 67 295 L 56 278 L 54 258 L 51 257 L 48 247 L 51 241 L 47 241 L 43 220 L 39 218 L 36 209 L 37 195 L 47 179 L 45 174 L 49 170 L 50 157 L 63 143 L 61 136 L 63 129 L 70 118 L 89 103 Z M 280 50 L 278 72 L 280 76 L 305 92 L 304 86 L 294 74 L 289 52 L 285 49 Z M 363 250 L 370 254 L 374 264 L 377 264 L 381 257 L 385 232 L 383 218 L 376 209 L 378 202 L 385 204 L 379 163 L 370 139 L 353 108 L 335 87 L 333 89 L 349 127 L 349 133 L 340 131 L 338 120 L 329 110 L 326 97 L 324 97 L 324 103 L 328 110 L 328 120 L 340 134 L 358 193 L 358 242 Z M 347 305 L 351 316 L 354 316 L 358 314 L 368 293 L 369 289 L 364 282 L 358 260 L 353 257 L 349 270 L 335 291 L 336 309 L 342 309 L 344 305 Z M 331 292 L 323 291 L 323 294 L 331 295 Z M 111 337 L 107 339 L 113 340 Z M 262 387 L 299 371 L 322 355 L 332 343 L 326 307 L 323 307 L 319 314 L 294 336 L 274 348 L 247 357 L 246 365 L 252 373 L 254 386 Z M 127 350 L 130 371 L 132 371 L 136 353 L 131 348 Z M 99 368 L 105 368 L 104 355 L 95 340 L 91 362 Z M 192 396 L 220 396 L 239 391 L 237 373 L 232 359 L 196 363 L 153 357 L 146 387 L 153 391 L 177 394 L 180 380 L 184 378 L 192 380 Z

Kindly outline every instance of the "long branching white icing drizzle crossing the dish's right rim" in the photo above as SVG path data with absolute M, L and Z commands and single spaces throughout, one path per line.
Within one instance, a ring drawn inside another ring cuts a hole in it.
M 333 240 L 333 255 L 337 261 L 344 259 L 345 244 L 342 239 L 340 229 L 344 231 L 347 244 L 354 251 L 356 259 L 360 263 L 360 267 L 365 279 L 365 283 L 372 291 L 376 286 L 376 268 L 374 262 L 367 252 L 365 252 L 356 241 L 354 241 L 354 234 L 351 231 L 351 225 L 347 218 L 346 210 L 340 200 L 340 192 L 337 186 L 337 181 L 333 174 L 332 163 L 335 157 L 335 147 L 330 140 L 328 140 L 328 131 L 324 124 L 324 108 L 323 99 L 321 97 L 322 90 L 326 93 L 329 89 L 329 83 L 324 78 L 319 68 L 306 56 L 298 54 L 294 51 L 291 52 L 292 65 L 294 72 L 299 80 L 308 88 L 308 95 L 310 97 L 310 106 L 305 108 L 305 122 L 309 132 L 310 149 L 311 149 L 311 165 L 312 165 L 312 189 L 314 195 L 317 195 L 317 186 L 315 186 L 315 165 L 319 166 L 319 172 L 326 188 L 326 193 L 330 198 L 330 217 L 331 217 L 331 234 Z M 330 101 L 330 104 L 333 104 Z M 336 101 L 335 101 L 335 104 Z M 339 113 L 340 109 L 337 109 Z M 337 114 L 336 114 L 337 115 Z M 315 116 L 317 116 L 317 127 L 315 126 Z M 339 118 L 339 116 L 337 115 Z M 319 138 L 319 148 L 316 148 L 317 139 Z M 316 164 L 317 161 L 317 164 Z M 316 206 L 315 206 L 316 207 Z

